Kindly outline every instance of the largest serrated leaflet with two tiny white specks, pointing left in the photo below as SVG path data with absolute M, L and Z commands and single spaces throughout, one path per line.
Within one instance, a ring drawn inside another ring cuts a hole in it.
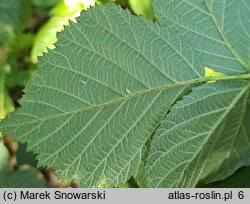
M 118 186 L 136 177 L 146 141 L 186 80 L 204 70 L 167 29 L 116 5 L 83 12 L 77 21 L 40 59 L 22 108 L 0 127 L 28 142 L 39 164 L 56 167 L 60 178 L 81 187 Z

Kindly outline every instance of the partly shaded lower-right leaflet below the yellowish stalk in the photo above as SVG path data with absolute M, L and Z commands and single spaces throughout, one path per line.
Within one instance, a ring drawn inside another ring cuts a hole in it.
M 249 145 L 242 145 L 250 134 L 240 134 L 248 95 L 249 83 L 224 81 L 194 88 L 174 105 L 152 142 L 149 186 L 195 187 L 212 173 L 222 179 L 250 164 Z

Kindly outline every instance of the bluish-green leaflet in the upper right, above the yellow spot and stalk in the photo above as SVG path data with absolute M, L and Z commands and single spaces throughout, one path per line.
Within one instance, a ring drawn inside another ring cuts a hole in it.
M 204 66 L 250 71 L 250 1 L 155 0 L 156 18 L 199 51 Z

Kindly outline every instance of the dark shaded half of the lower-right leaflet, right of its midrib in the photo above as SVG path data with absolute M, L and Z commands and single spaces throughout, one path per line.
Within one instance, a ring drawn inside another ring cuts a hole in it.
M 249 91 L 235 105 L 223 121 L 217 141 L 204 169 L 213 167 L 213 174 L 206 175 L 203 183 L 222 180 L 238 168 L 250 165 L 250 94 Z

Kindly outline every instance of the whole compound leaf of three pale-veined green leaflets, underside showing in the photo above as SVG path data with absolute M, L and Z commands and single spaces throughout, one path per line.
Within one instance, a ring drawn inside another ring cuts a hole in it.
M 157 23 L 115 4 L 82 13 L 40 58 L 1 130 L 81 187 L 131 176 L 143 186 L 193 187 L 231 175 L 249 165 L 243 3 L 155 0 Z M 205 67 L 222 74 L 205 77 Z

